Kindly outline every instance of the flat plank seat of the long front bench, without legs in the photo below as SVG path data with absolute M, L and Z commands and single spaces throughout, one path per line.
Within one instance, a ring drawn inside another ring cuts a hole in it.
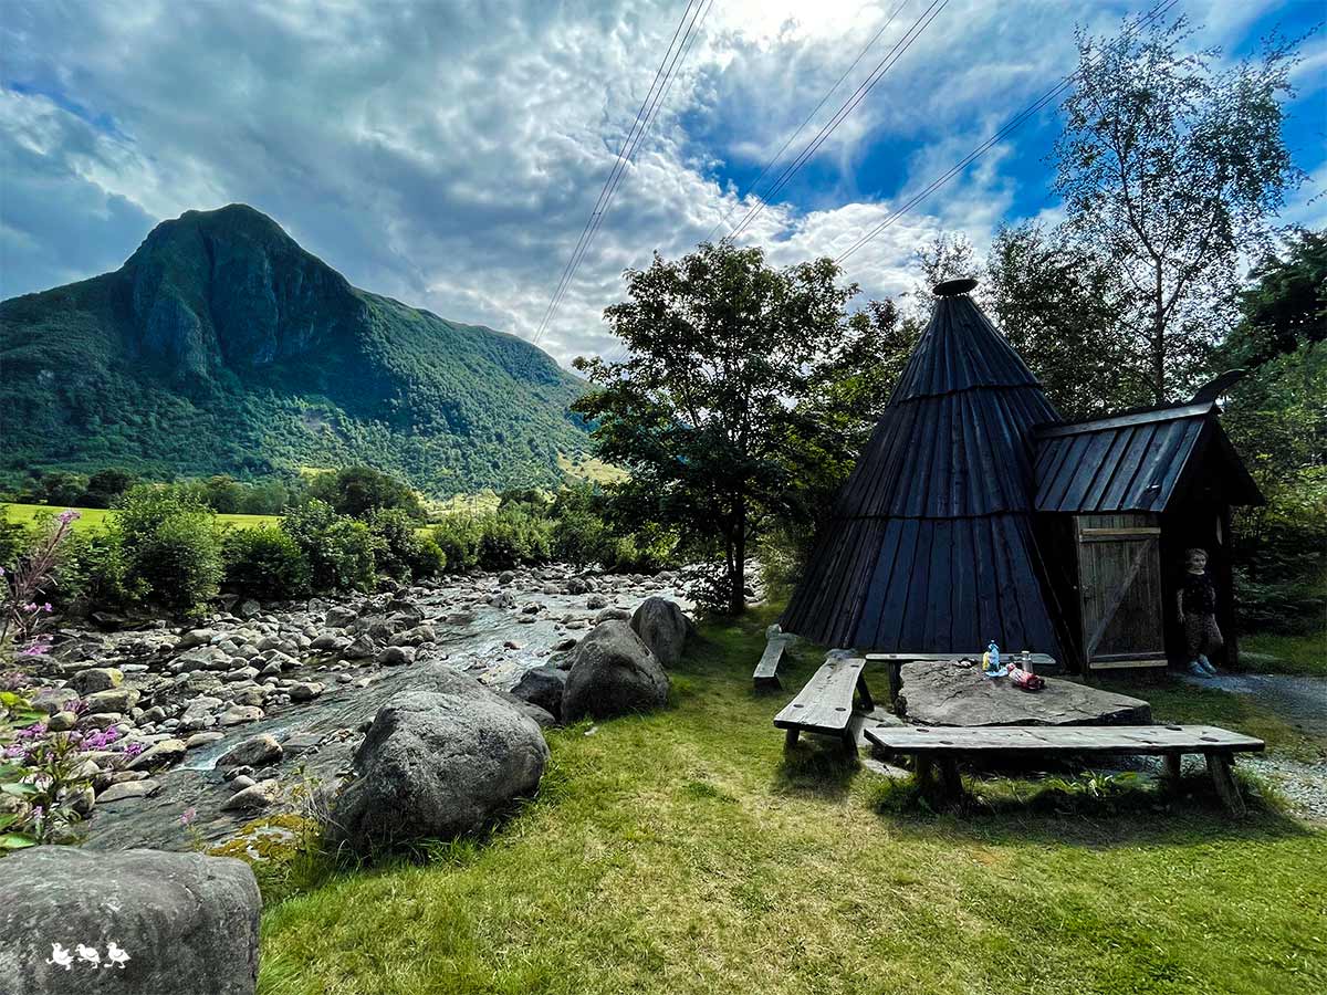
M 865 738 L 900 754 L 1208 754 L 1259 751 L 1261 739 L 1216 726 L 874 726 Z

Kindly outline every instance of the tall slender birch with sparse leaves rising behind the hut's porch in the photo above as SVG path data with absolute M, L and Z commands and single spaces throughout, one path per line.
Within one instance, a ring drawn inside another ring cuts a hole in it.
M 1157 403 L 1205 369 L 1241 253 L 1266 244 L 1300 171 L 1282 138 L 1294 46 L 1226 66 L 1184 19 L 1079 32 L 1055 146 L 1067 220 L 1125 280 L 1140 374 Z

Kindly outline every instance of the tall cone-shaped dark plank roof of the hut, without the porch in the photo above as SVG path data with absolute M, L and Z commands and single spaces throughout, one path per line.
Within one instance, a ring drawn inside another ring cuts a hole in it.
M 1058 421 L 971 298 L 941 297 L 783 628 L 863 651 L 1058 654 L 1031 528 L 1032 429 Z

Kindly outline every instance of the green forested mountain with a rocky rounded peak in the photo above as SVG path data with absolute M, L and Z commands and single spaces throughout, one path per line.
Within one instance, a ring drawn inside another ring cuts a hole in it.
M 431 494 L 551 483 L 584 390 L 516 336 L 352 287 L 244 204 L 0 302 L 0 474 L 366 463 Z

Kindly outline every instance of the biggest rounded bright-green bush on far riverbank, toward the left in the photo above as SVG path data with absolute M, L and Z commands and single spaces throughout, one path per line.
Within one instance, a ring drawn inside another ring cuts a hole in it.
M 192 612 L 216 597 L 222 544 L 216 515 L 175 487 L 143 484 L 123 495 L 114 529 L 129 578 L 145 597 L 173 612 Z

